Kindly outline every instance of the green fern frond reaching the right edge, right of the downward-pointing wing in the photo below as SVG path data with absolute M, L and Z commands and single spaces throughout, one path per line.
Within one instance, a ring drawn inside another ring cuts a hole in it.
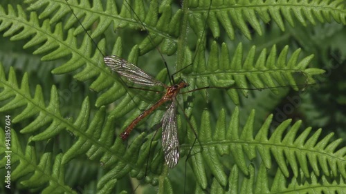
M 345 148 L 336 151 L 336 147 L 342 140 L 330 142 L 332 133 L 319 141 L 321 130 L 310 134 L 311 128 L 306 128 L 298 135 L 301 122 L 296 122 L 289 128 L 291 119 L 287 119 L 268 137 L 268 130 L 273 118 L 271 115 L 258 133 L 253 135 L 254 117 L 255 111 L 248 117 L 244 128 L 239 130 L 239 110 L 235 108 L 228 128 L 223 124 L 212 130 L 210 115 L 208 111 L 203 112 L 201 127 L 199 127 L 201 128 L 199 131 L 201 145 L 192 148 L 190 159 L 194 173 L 199 175 L 197 181 L 203 189 L 207 186 L 206 171 L 210 171 L 221 186 L 226 186 L 227 175 L 222 168 L 227 168 L 227 166 L 222 165 L 221 155 L 231 155 L 237 168 L 244 175 L 249 175 L 246 161 L 255 159 L 259 153 L 266 168 L 272 168 L 272 160 L 274 160 L 285 177 L 290 176 L 289 171 L 292 171 L 293 175 L 297 177 L 300 168 L 305 177 L 309 177 L 311 170 L 316 175 L 322 173 L 326 176 L 346 177 L 345 160 L 343 159 Z M 219 120 L 218 123 L 226 123 L 225 117 L 221 116 L 219 119 L 221 121 Z M 192 123 L 194 122 L 192 121 Z M 284 134 L 287 128 L 289 130 Z M 190 139 L 193 139 L 192 136 L 190 135 Z M 183 153 L 188 153 L 190 145 L 183 145 L 181 149 L 185 150 Z

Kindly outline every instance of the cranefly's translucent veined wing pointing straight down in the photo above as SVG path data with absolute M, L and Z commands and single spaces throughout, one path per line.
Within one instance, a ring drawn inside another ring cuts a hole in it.
M 179 139 L 176 125 L 175 99 L 162 118 L 162 147 L 165 153 L 165 162 L 168 167 L 174 168 L 179 160 Z

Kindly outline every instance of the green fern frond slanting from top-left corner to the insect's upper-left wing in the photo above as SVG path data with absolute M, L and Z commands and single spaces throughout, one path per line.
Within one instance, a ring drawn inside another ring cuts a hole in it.
M 61 23 L 58 23 L 55 26 L 55 32 L 51 32 L 49 20 L 45 20 L 43 25 L 39 26 L 37 14 L 35 14 L 35 12 L 32 12 L 30 15 L 30 21 L 27 21 L 21 7 L 17 6 L 17 9 L 19 12 L 18 16 L 15 14 L 12 6 L 8 6 L 8 14 L 6 14 L 2 8 L 0 9 L 0 20 L 3 21 L 1 23 L 0 30 L 7 29 L 4 35 L 12 35 L 21 29 L 20 27 L 24 27 L 23 31 L 11 37 L 11 39 L 24 39 L 30 35 L 33 35 L 32 39 L 26 43 L 24 48 L 36 46 L 37 44 L 42 43 L 42 41 L 45 41 L 44 45 L 37 48 L 37 50 L 34 52 L 35 54 L 49 52 L 42 57 L 43 60 L 59 59 L 66 55 L 72 54 L 71 59 L 63 66 L 55 68 L 53 73 L 62 74 L 71 72 L 85 65 L 81 72 L 75 74 L 75 79 L 86 81 L 91 79 L 91 77 L 98 76 L 98 78 L 95 79 L 93 84 L 90 86 L 92 90 L 100 91 L 113 85 L 113 87 L 110 88 L 111 90 L 109 93 L 118 94 L 112 96 L 113 101 L 116 100 L 117 97 L 124 95 L 125 90 L 121 88 L 121 84 L 114 84 L 114 82 L 119 83 L 119 79 L 115 79 L 115 77 L 111 76 L 110 70 L 108 70 L 104 64 L 100 63 L 100 61 L 102 61 L 102 54 L 100 52 L 96 52 L 93 55 L 91 54 L 92 43 L 88 36 L 85 36 L 84 40 L 82 41 L 82 45 L 78 48 L 77 39 L 73 36 L 72 30 L 69 30 L 67 38 L 64 39 L 62 36 L 63 32 Z M 13 22 L 17 22 L 17 25 L 11 26 Z M 104 48 L 104 39 L 100 41 L 98 48 Z M 114 46 L 114 49 L 117 48 L 121 48 L 120 39 L 118 39 L 116 45 Z M 50 51 L 52 49 L 53 51 Z M 117 49 L 117 52 L 114 54 L 121 55 L 119 52 L 120 50 L 121 49 Z

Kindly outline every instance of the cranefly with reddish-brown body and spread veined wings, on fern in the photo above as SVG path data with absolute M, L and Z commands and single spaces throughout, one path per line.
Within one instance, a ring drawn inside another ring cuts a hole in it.
M 144 110 L 136 119 L 134 119 L 129 126 L 120 134 L 121 139 L 127 139 L 129 133 L 142 119 L 150 115 L 156 108 L 165 104 L 167 101 L 172 101 L 172 104 L 163 115 L 162 119 L 162 147 L 165 153 L 165 162 L 170 168 L 174 168 L 178 164 L 179 160 L 179 139 L 178 130 L 176 124 L 176 95 L 182 88 L 189 86 L 185 81 L 181 81 L 179 84 L 173 86 L 166 86 L 161 81 L 154 79 L 146 72 L 131 64 L 125 59 L 121 59 L 115 55 L 104 57 L 104 63 L 111 68 L 111 70 L 117 72 L 122 77 L 125 77 L 128 81 L 140 84 L 143 86 L 163 86 L 166 89 L 165 95 L 161 97 L 155 104 Z

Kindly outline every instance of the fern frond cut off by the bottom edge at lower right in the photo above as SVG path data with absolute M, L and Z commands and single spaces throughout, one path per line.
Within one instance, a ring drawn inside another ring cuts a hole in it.
M 230 169 L 228 187 L 221 186 L 216 179 L 212 179 L 210 191 L 197 186 L 194 193 L 343 193 L 346 188 L 345 180 L 330 181 L 326 175 L 309 174 L 287 178 L 280 169 L 277 169 L 273 180 L 268 179 L 268 171 L 264 164 L 259 168 L 248 166 L 248 176 L 242 176 L 236 165 Z

